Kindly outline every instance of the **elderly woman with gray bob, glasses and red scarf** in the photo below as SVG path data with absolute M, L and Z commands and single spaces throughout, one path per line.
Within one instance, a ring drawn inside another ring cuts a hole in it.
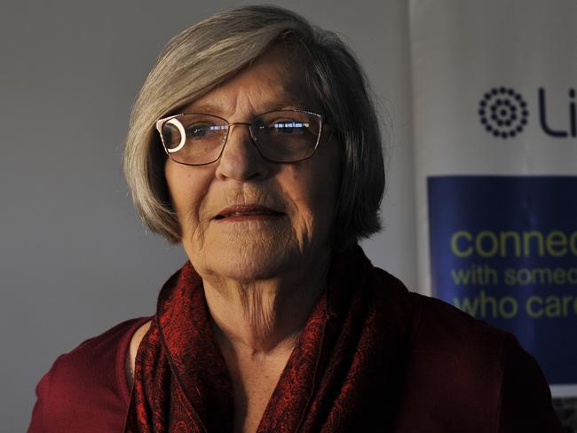
M 407 292 L 379 229 L 381 141 L 336 35 L 284 9 L 176 36 L 134 106 L 138 214 L 189 261 L 152 318 L 56 360 L 29 431 L 559 431 L 509 334 Z

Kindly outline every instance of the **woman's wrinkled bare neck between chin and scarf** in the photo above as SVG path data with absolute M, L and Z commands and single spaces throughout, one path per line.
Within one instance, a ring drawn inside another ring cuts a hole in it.
M 203 279 L 217 342 L 249 357 L 292 350 L 327 283 L 328 264 L 327 253 L 309 269 L 281 278 Z

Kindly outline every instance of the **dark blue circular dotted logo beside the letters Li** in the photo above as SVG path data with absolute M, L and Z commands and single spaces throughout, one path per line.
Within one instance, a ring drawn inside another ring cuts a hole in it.
M 526 100 L 506 87 L 487 91 L 478 103 L 478 115 L 486 131 L 498 138 L 513 138 L 527 124 L 529 111 Z

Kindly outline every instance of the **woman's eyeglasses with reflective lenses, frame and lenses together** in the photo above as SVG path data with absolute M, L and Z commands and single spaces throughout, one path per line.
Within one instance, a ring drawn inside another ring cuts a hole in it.
M 249 127 L 258 153 L 268 161 L 298 162 L 319 146 L 322 116 L 304 110 L 259 114 L 250 122 L 228 122 L 214 114 L 186 113 L 156 122 L 170 159 L 185 165 L 206 165 L 220 158 L 233 125 Z

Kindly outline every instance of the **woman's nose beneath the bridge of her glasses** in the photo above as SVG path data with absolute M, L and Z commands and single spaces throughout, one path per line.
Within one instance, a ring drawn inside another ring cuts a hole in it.
M 225 148 L 217 164 L 218 178 L 238 181 L 265 178 L 270 176 L 272 170 L 271 162 L 263 158 L 253 143 L 246 123 L 230 125 Z

